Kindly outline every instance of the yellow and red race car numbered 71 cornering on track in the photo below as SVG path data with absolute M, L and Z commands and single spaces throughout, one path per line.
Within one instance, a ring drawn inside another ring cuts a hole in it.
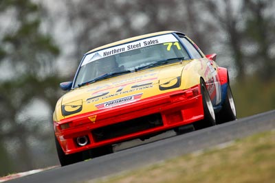
M 181 32 L 127 38 L 85 53 L 56 103 L 61 165 L 109 154 L 113 145 L 236 119 L 227 69 Z

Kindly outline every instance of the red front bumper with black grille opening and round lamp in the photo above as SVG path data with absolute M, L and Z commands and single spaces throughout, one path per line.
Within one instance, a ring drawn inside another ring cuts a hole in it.
M 143 123 L 146 117 L 159 117 L 159 121 L 155 122 L 157 125 L 141 127 L 139 123 Z M 73 154 L 170 130 L 200 119 L 203 119 L 203 102 L 198 85 L 124 106 L 80 114 L 60 123 L 54 122 L 54 129 L 65 154 Z M 65 123 L 67 128 L 61 127 Z M 89 143 L 82 147 L 77 145 L 76 138 L 79 136 L 87 136 Z

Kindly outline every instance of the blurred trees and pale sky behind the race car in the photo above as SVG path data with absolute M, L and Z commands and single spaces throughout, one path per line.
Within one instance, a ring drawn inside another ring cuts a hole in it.
M 272 0 L 1 0 L 0 175 L 58 164 L 52 112 L 86 51 L 186 33 L 229 69 L 238 117 L 275 108 Z

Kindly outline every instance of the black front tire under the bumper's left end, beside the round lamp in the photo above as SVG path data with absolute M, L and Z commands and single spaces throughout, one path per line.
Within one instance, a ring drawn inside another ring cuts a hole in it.
M 66 166 L 66 165 L 69 165 L 69 164 L 73 164 L 73 163 L 76 163 L 76 162 L 80 162 L 80 161 L 83 161 L 83 154 L 80 152 L 80 153 L 76 153 L 76 154 L 69 154 L 69 155 L 66 155 L 63 151 L 63 149 L 61 148 L 61 145 L 58 143 L 58 140 L 55 137 L 55 141 L 56 141 L 56 151 L 57 151 L 57 155 L 58 155 L 58 158 L 59 158 L 59 162 L 61 163 L 61 166 Z

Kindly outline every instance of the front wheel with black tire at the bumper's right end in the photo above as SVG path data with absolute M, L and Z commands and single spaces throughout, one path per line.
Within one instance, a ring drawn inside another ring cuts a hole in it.
M 206 84 L 201 80 L 201 95 L 203 101 L 204 119 L 194 123 L 195 130 L 199 130 L 205 127 L 216 125 L 216 117 L 214 114 L 214 108 L 210 99 Z

